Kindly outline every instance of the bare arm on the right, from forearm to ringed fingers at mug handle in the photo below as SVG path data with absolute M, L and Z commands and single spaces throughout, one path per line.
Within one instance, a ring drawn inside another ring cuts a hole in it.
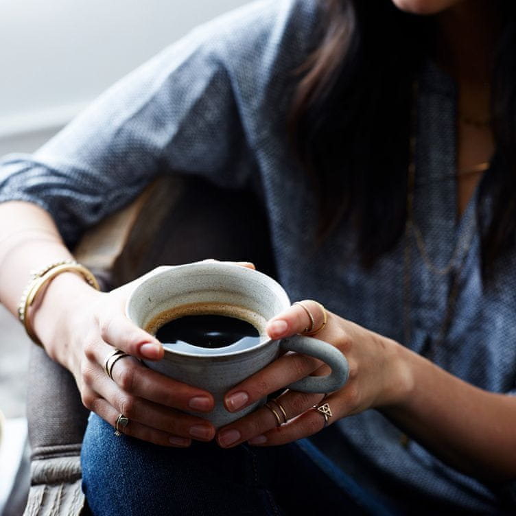
M 320 313 L 316 305 L 311 310 L 313 314 Z M 320 322 L 316 320 L 316 327 Z M 269 322 L 268 333 L 273 338 L 283 338 L 301 333 L 309 325 L 307 314 L 294 305 Z M 483 480 L 516 477 L 515 397 L 467 384 L 397 342 L 335 314 L 329 314 L 328 324 L 317 338 L 338 347 L 350 366 L 347 384 L 325 399 L 333 411 L 329 423 L 377 408 L 460 471 Z M 242 408 L 235 406 L 233 400 L 244 399 L 245 406 L 313 371 L 325 374 L 325 366 L 318 369 L 309 357 L 284 355 L 228 392 L 226 406 L 230 410 Z M 288 391 L 280 400 L 294 419 L 276 427 L 271 412 L 261 409 L 222 429 L 219 443 L 224 447 L 243 441 L 279 445 L 322 430 L 324 419 L 310 410 L 320 403 L 320 395 Z M 237 436 L 235 431 L 238 438 L 231 443 L 226 441 L 226 437 Z

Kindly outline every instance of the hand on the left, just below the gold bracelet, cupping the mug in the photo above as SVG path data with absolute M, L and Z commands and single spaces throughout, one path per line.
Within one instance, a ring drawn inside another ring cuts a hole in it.
M 138 281 L 138 280 L 136 280 Z M 158 445 L 187 447 L 191 439 L 211 441 L 215 427 L 186 410 L 209 412 L 213 396 L 143 365 L 160 360 L 163 346 L 125 315 L 134 282 L 108 293 L 97 292 L 76 274 L 51 282 L 34 312 L 36 334 L 47 353 L 75 377 L 82 402 L 115 427 L 119 414 L 129 423 L 121 432 Z M 106 359 L 119 349 L 111 379 Z

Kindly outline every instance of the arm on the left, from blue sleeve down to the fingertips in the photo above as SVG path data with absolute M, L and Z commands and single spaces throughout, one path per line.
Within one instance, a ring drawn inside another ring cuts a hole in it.
M 3 161 L 0 299 L 13 314 L 31 269 L 71 257 L 67 246 L 84 227 L 155 174 L 181 169 L 238 186 L 254 172 L 252 154 L 235 152 L 246 142 L 228 74 L 197 40 L 191 36 L 115 86 L 35 156 Z M 134 357 L 163 353 L 124 318 L 128 288 L 101 294 L 75 274 L 60 274 L 30 310 L 36 335 L 73 373 L 84 404 L 110 424 L 123 412 L 131 419 L 127 432 L 148 441 L 209 440 L 211 425 L 177 410 L 210 410 L 209 393 L 152 375 L 130 358 L 117 362 L 115 382 L 104 373 L 113 347 Z

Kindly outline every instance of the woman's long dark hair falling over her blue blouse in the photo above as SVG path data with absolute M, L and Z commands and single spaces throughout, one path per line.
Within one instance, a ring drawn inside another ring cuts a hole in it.
M 320 45 L 301 69 L 289 134 L 320 201 L 320 235 L 351 222 L 368 267 L 405 228 L 412 86 L 436 24 L 389 0 L 319 4 Z M 491 222 L 480 221 L 484 277 L 516 235 L 516 2 L 500 4 L 506 26 L 493 73 L 497 156 L 479 189 L 479 202 L 488 193 L 493 201 Z

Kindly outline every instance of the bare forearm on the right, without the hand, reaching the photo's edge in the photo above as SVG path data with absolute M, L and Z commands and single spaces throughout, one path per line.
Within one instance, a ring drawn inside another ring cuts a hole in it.
M 516 478 L 516 398 L 486 392 L 400 347 L 410 371 L 382 412 L 449 465 L 486 480 Z

